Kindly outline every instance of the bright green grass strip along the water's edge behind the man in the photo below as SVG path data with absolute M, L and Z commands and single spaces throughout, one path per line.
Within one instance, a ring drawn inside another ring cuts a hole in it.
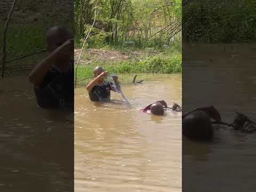
M 93 68 L 102 66 L 109 73 L 115 74 L 134 74 L 134 73 L 160 73 L 171 74 L 181 73 L 181 53 L 160 54 L 155 57 L 148 57 L 142 61 L 126 60 L 112 63 L 93 63 L 91 65 L 79 66 L 77 69 L 77 78 L 89 78 L 93 76 Z

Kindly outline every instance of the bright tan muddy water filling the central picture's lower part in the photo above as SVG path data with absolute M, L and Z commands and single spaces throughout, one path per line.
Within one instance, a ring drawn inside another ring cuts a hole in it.
M 85 85 L 75 91 L 75 191 L 181 191 L 181 113 L 140 111 L 156 100 L 181 104 L 181 75 L 138 78 L 122 85 L 131 106 L 118 93 L 94 103 Z

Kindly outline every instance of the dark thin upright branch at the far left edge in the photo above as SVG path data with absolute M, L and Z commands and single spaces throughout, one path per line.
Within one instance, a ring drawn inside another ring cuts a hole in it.
M 5 27 L 4 27 L 4 33 L 3 33 L 3 63 L 2 63 L 2 78 L 4 78 L 4 70 L 5 70 L 5 64 L 6 64 L 6 35 L 7 35 L 7 28 L 9 26 L 9 21 L 14 9 L 15 4 L 17 3 L 17 0 L 13 1 L 11 10 L 9 12 L 9 15 L 7 17 Z

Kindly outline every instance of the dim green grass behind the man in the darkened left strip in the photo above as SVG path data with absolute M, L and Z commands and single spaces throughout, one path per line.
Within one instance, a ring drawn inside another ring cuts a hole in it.
M 15 58 L 22 57 L 24 55 L 34 53 L 37 51 L 42 51 L 46 49 L 46 41 L 45 34 L 47 29 L 54 25 L 65 25 L 66 21 L 61 21 L 58 19 L 49 20 L 45 19 L 41 23 L 33 23 L 33 24 L 15 24 L 10 23 L 9 28 L 7 30 L 7 38 L 6 38 L 6 60 L 12 60 Z M 73 23 L 67 24 L 70 28 L 73 26 Z M 4 23 L 0 26 L 0 45 L 2 50 L 3 45 L 3 30 Z M 0 53 L 2 55 L 2 52 Z M 12 65 L 19 65 L 24 61 L 29 62 L 31 60 L 42 59 L 45 57 L 45 54 L 38 54 L 33 57 L 29 57 L 27 59 L 18 60 L 15 62 L 7 63 L 6 67 L 10 67 Z M 38 61 L 39 61 L 38 60 Z M 30 64 L 30 63 L 27 63 Z

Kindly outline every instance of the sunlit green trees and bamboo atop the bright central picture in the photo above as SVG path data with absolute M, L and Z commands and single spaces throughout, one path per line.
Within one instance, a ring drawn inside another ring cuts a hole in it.
M 97 17 L 87 46 L 132 41 L 137 47 L 161 47 L 180 35 L 181 0 L 75 0 L 77 46 L 93 23 L 95 5 Z

